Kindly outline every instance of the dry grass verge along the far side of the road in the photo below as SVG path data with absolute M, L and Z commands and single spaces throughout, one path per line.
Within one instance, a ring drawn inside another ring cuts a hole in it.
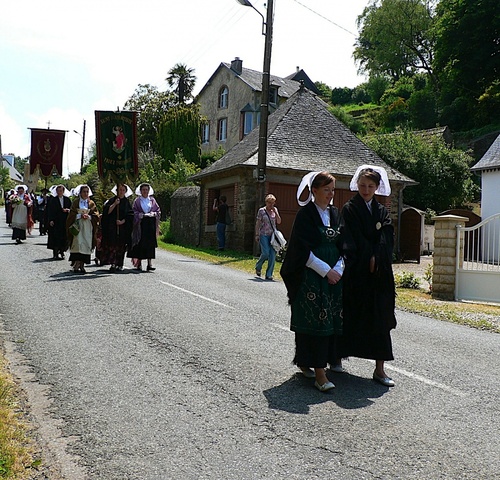
M 171 243 L 160 242 L 165 250 L 180 253 L 191 258 L 204 260 L 216 265 L 227 265 L 253 274 L 256 259 L 248 253 L 224 251 L 217 252 L 208 248 L 187 248 Z M 276 264 L 275 279 L 279 275 L 280 264 Z M 478 303 L 446 302 L 435 300 L 421 289 L 398 288 L 396 307 L 407 312 L 418 313 L 427 317 L 467 325 L 480 330 L 500 333 L 500 307 Z

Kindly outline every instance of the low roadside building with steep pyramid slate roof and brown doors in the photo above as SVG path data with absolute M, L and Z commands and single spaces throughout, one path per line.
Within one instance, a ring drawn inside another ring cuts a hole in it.
M 389 175 L 392 194 L 379 198 L 391 211 L 396 229 L 402 209 L 402 191 L 415 182 L 392 169 L 337 120 L 327 104 L 300 88 L 269 116 L 267 178 L 265 190 L 273 193 L 283 222 L 280 230 L 289 236 L 298 210 L 296 190 L 309 171 L 326 170 L 337 179 L 334 203 L 341 208 L 352 197 L 349 182 L 358 166 L 374 164 Z M 216 245 L 214 198 L 227 197 L 234 223 L 227 229 L 229 249 L 251 252 L 254 242 L 258 156 L 258 129 L 249 133 L 222 158 L 198 172 L 192 180 L 200 186 L 198 245 Z M 177 219 L 172 216 L 175 224 Z

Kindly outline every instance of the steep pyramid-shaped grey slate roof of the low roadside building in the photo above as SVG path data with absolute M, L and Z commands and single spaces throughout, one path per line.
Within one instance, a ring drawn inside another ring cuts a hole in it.
M 289 168 L 300 172 L 327 170 L 334 175 L 354 175 L 363 164 L 379 165 L 390 180 L 408 185 L 409 177 L 389 167 L 332 115 L 327 104 L 307 89 L 300 89 L 268 119 L 267 169 Z M 255 167 L 259 128 L 255 128 L 222 158 L 191 177 L 203 177 L 237 168 Z

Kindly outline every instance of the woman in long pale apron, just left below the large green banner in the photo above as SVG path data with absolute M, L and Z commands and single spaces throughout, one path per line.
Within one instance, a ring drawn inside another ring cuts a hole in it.
M 76 198 L 66 220 L 70 245 L 69 261 L 75 273 L 86 273 L 85 264 L 90 263 L 90 256 L 97 242 L 99 212 L 96 204 L 90 199 L 92 191 L 88 185 L 78 185 L 73 189 L 73 193 Z

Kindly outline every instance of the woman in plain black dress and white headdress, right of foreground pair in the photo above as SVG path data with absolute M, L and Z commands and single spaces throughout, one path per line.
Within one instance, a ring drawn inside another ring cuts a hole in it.
M 351 180 L 351 190 L 358 193 L 342 208 L 346 266 L 344 332 L 338 339 L 338 354 L 375 360 L 373 379 L 392 387 L 384 362 L 394 359 L 390 334 L 396 327 L 394 229 L 389 212 L 375 199 L 375 194 L 391 193 L 386 171 L 362 165 Z

